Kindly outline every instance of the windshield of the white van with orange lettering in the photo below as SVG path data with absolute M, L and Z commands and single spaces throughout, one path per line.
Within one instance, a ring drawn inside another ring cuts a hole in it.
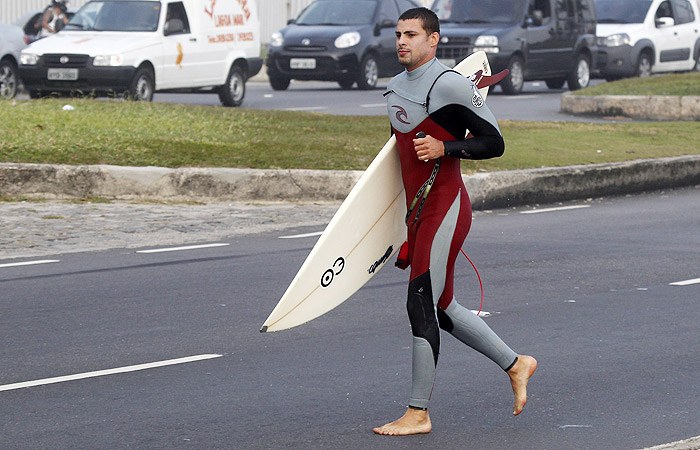
M 92 1 L 78 11 L 67 30 L 156 31 L 160 2 Z

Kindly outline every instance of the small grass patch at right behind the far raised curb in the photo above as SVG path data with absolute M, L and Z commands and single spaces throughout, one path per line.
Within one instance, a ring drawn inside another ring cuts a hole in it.
M 625 78 L 573 93 L 575 95 L 700 95 L 700 72 Z

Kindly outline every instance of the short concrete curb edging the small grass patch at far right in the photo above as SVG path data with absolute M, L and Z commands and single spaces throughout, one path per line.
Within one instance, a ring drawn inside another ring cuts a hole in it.
M 636 120 L 700 120 L 700 96 L 574 95 L 561 96 L 561 111 L 568 114 L 625 116 Z

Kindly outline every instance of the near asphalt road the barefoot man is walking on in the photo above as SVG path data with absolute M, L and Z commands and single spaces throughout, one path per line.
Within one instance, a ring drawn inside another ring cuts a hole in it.
M 298 227 L 0 261 L 0 448 L 614 450 L 697 436 L 700 284 L 671 283 L 700 277 L 698 189 L 557 206 L 573 208 L 478 212 L 465 245 L 487 322 L 540 362 L 519 417 L 500 369 L 444 335 L 433 432 L 375 436 L 410 390 L 407 274 L 385 268 L 326 316 L 260 334 L 315 242 L 280 236 L 319 230 Z M 465 261 L 455 290 L 478 306 Z M 106 369 L 133 371 L 90 376 Z

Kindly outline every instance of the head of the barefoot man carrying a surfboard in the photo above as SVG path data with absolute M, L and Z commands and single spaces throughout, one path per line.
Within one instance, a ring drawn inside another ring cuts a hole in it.
M 440 22 L 427 8 L 404 11 L 396 25 L 399 63 L 411 71 L 435 57 L 440 40 Z

